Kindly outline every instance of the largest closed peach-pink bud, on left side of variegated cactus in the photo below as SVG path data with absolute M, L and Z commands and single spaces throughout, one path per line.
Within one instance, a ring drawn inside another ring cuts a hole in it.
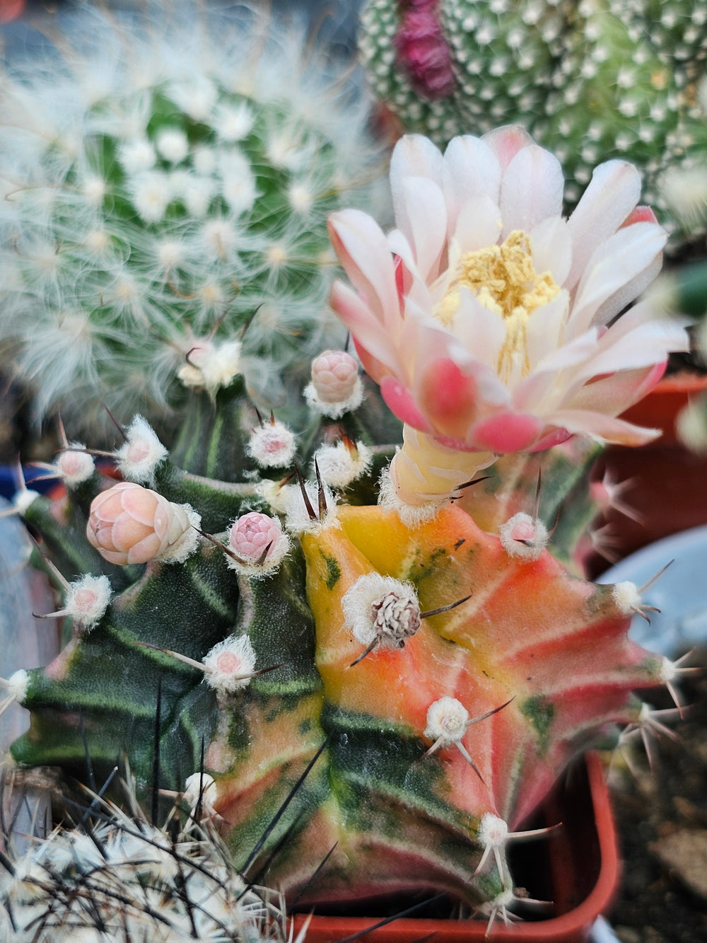
M 156 491 L 123 481 L 93 499 L 86 536 L 119 566 L 156 557 L 181 562 L 198 543 L 198 515 L 189 505 L 173 505 Z

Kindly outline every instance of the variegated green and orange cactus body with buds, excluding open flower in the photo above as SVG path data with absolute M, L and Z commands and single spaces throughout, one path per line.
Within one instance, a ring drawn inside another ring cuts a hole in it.
M 366 304 L 374 283 L 397 304 L 394 282 L 349 268 Z M 354 320 L 363 302 L 347 298 Z M 372 316 L 358 324 L 367 362 L 391 359 Z M 656 363 L 676 331 L 655 340 Z M 652 376 L 632 366 L 632 382 Z M 98 782 L 127 754 L 148 809 L 203 771 L 238 868 L 301 905 L 439 889 L 505 913 L 523 820 L 573 757 L 639 722 L 634 689 L 677 671 L 628 637 L 640 590 L 579 575 L 596 447 L 563 435 L 508 450 L 493 475 L 448 476 L 432 510 L 404 514 L 376 504 L 400 426 L 371 385 L 334 422 L 311 412 L 284 473 L 247 457 L 276 421 L 257 421 L 242 382 L 197 419 L 149 488 L 113 486 L 115 499 L 95 472 L 61 501 L 18 504 L 67 586 L 105 576 L 112 594 L 52 664 L 6 683 L 31 711 L 15 760 Z M 366 458 L 330 486 L 315 458 L 337 441 Z M 165 552 L 186 506 L 194 542 Z

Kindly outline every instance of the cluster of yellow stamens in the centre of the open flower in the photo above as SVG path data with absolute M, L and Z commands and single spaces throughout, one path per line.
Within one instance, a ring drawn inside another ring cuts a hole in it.
M 441 323 L 452 322 L 461 288 L 469 289 L 483 306 L 505 322 L 506 338 L 496 366 L 501 378 L 508 380 L 517 364 L 521 375 L 527 376 L 528 318 L 560 290 L 551 273 L 535 272 L 528 234 L 516 229 L 501 245 L 489 245 L 462 256 L 450 289 L 436 310 Z

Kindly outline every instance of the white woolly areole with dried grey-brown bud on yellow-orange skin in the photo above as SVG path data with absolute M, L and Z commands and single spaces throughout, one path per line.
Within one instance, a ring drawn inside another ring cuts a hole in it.
M 421 624 L 418 594 L 411 583 L 372 572 L 359 576 L 341 597 L 344 620 L 362 645 L 378 638 L 389 648 L 403 648 Z

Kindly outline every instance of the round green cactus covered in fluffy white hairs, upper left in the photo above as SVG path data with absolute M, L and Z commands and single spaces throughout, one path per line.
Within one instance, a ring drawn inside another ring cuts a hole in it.
M 151 14 L 87 5 L 61 55 L 2 72 L 5 371 L 74 430 L 101 402 L 163 423 L 182 385 L 237 373 L 282 405 L 281 377 L 344 339 L 327 214 L 384 170 L 350 66 L 304 30 L 245 5 Z

